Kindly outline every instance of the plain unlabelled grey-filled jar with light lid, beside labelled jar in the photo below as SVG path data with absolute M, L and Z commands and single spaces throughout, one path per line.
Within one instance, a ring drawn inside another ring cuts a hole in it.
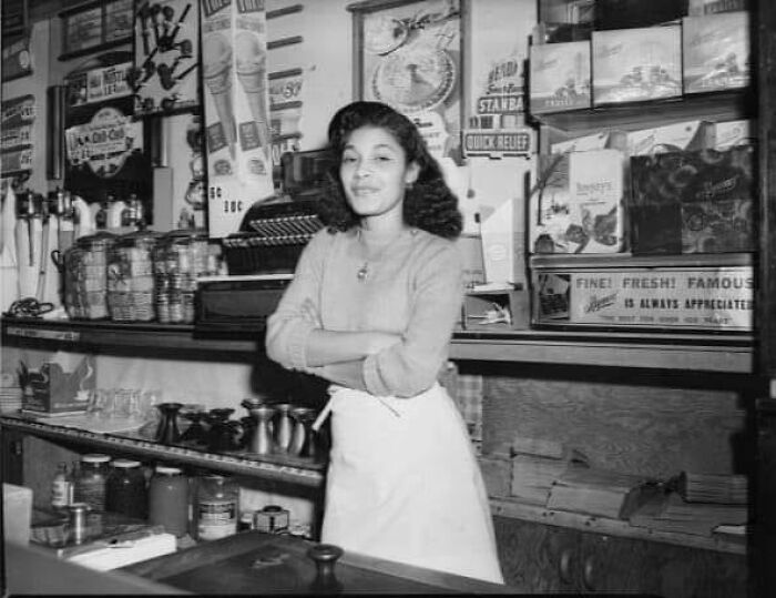
M 188 531 L 188 479 L 178 467 L 156 466 L 149 485 L 149 521 L 177 537 Z

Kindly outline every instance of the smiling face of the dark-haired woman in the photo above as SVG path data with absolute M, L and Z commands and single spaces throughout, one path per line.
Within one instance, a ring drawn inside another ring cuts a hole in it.
M 391 133 L 361 126 L 350 133 L 339 165 L 339 179 L 350 207 L 361 217 L 398 216 L 405 186 L 418 178 L 418 165 L 407 164 L 405 151 Z

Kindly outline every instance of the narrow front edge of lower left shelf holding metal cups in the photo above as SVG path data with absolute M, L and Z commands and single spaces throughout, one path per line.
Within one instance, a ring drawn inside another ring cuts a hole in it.
M 0 426 L 49 440 L 75 443 L 84 447 L 132 455 L 141 459 L 164 459 L 225 474 L 261 477 L 308 487 L 323 486 L 326 467 L 324 463 L 305 465 L 293 463 L 302 459 L 283 456 L 269 456 L 264 459 L 248 455 L 215 454 L 182 446 L 166 446 L 129 436 L 58 426 L 55 423 L 18 415 L 0 416 Z

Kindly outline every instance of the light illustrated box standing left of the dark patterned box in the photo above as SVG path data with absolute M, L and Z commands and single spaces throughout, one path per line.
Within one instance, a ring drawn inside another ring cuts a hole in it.
M 541 154 L 529 200 L 531 252 L 622 252 L 624 164 L 619 150 Z

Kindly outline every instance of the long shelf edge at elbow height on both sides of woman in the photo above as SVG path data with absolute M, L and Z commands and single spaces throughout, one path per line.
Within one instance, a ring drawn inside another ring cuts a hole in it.
M 3 318 L 2 343 L 111 354 L 255 361 L 258 342 L 197 338 L 191 325 Z M 457 331 L 451 359 L 751 374 L 754 336 L 592 331 Z

